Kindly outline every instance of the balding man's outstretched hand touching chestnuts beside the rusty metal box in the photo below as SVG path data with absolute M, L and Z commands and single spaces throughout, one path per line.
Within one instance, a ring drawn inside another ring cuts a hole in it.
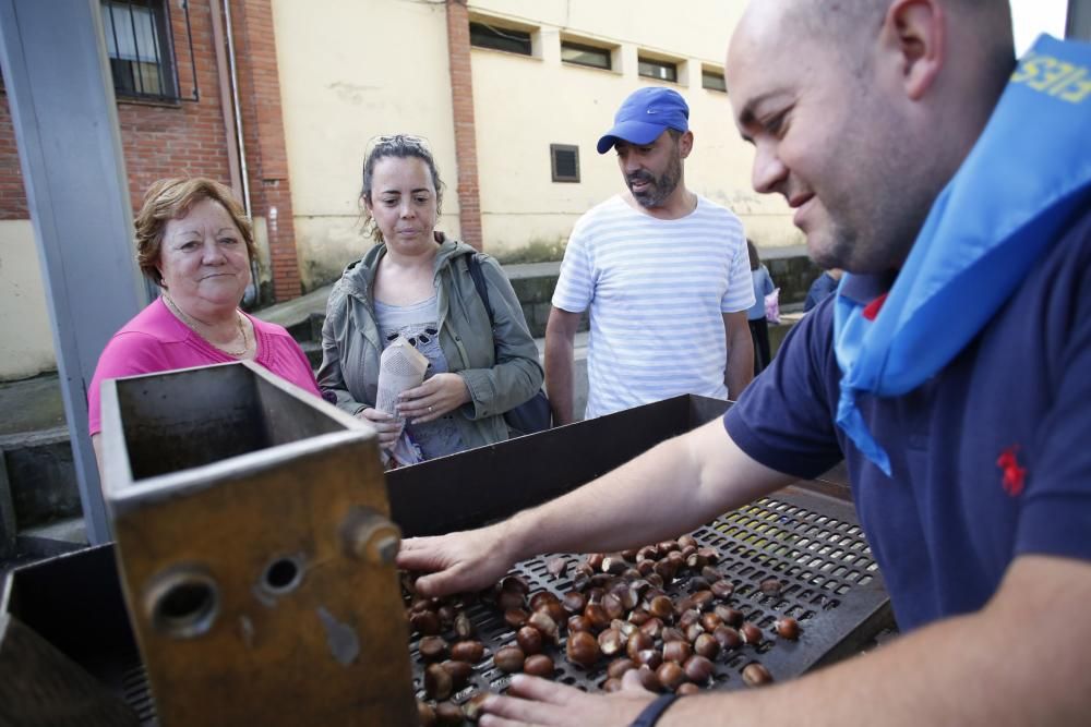
M 481 591 L 504 577 L 518 558 L 505 523 L 437 537 L 403 541 L 398 568 L 428 571 L 417 580 L 422 596 Z

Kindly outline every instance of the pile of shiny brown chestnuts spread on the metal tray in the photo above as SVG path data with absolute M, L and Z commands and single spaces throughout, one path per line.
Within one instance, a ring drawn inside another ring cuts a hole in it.
M 476 720 L 484 693 L 463 704 L 452 698 L 490 657 L 500 671 L 547 679 L 558 674 L 561 658 L 588 675 L 604 667 L 596 683 L 607 692 L 620 689 L 625 673 L 636 670 L 648 690 L 691 694 L 711 686 L 716 661 L 743 645 L 800 638 L 800 625 L 791 617 L 778 619 L 768 634 L 746 621 L 731 605 L 734 585 L 715 567 L 718 559 L 715 548 L 702 547 L 691 535 L 616 554 L 556 557 L 547 571 L 571 583 L 561 596 L 531 592 L 525 578 L 509 574 L 480 594 L 419 598 L 411 574 L 405 574 L 407 613 L 423 664 L 421 723 Z M 760 583 L 766 595 L 780 589 L 776 579 Z M 511 630 L 505 645 L 491 654 L 467 615 L 477 603 Z M 772 681 L 757 661 L 747 663 L 741 677 L 750 687 Z

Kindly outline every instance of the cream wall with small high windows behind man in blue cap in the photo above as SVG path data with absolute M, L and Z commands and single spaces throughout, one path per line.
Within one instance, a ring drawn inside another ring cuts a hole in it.
M 485 250 L 502 256 L 530 243 L 563 242 L 579 215 L 623 189 L 613 153 L 595 144 L 621 101 L 655 82 L 636 73 L 637 50 L 673 57 L 690 105 L 694 153 L 685 165 L 690 189 L 739 214 L 763 247 L 795 245 L 802 235 L 780 197 L 751 186 L 753 152 L 739 138 L 728 95 L 702 87 L 703 65 L 723 66 L 731 29 L 744 3 L 686 3 L 667 12 L 651 0 L 565 2 L 472 0 L 471 14 L 538 28 L 536 57 L 471 51 L 479 184 Z M 618 46 L 612 71 L 562 63 L 564 37 Z M 551 180 L 551 143 L 579 147 L 579 183 Z

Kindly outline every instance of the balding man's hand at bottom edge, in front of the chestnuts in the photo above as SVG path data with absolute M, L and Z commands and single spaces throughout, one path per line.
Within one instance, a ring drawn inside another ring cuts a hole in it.
M 640 687 L 632 669 L 622 679 L 621 690 L 612 694 L 588 694 L 575 687 L 520 674 L 513 677 L 507 694 L 485 700 L 487 714 L 478 724 L 625 727 L 655 699 L 655 694 Z

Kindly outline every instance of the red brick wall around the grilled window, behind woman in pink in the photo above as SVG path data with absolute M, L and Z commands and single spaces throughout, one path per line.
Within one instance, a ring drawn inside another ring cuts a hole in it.
M 168 4 L 179 95 L 192 98 L 195 85 L 200 100 L 178 104 L 118 101 L 118 125 L 134 211 L 140 208 L 148 185 L 164 177 L 209 177 L 231 183 L 228 132 L 224 125 L 213 40 L 212 12 L 214 8 L 218 11 L 219 2 L 190 0 L 189 31 L 178 3 Z M 255 217 L 267 220 L 273 265 L 272 298 L 287 300 L 300 294 L 300 284 L 273 13 L 269 0 L 231 0 L 231 13 L 251 208 Z M 274 207 L 275 223 L 271 214 Z M 0 219 L 26 219 L 28 216 L 8 98 L 3 94 L 0 102 Z M 265 298 L 268 302 L 268 296 Z

